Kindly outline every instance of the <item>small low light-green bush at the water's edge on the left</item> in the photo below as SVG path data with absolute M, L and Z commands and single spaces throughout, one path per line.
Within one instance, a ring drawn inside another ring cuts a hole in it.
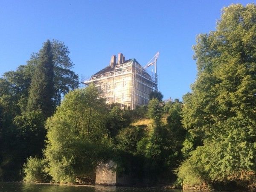
M 29 157 L 27 163 L 23 167 L 25 174 L 24 181 L 32 183 L 46 183 L 49 182 L 50 177 L 45 168 L 47 161 L 38 157 Z

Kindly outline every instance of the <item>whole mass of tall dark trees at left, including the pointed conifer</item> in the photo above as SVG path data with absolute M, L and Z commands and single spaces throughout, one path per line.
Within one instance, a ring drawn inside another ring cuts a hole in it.
M 45 120 L 78 87 L 66 45 L 47 41 L 26 65 L 0 78 L 0 180 L 20 180 L 29 156 L 42 157 Z

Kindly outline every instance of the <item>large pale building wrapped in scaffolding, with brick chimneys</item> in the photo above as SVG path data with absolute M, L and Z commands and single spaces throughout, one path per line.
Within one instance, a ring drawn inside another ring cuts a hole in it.
M 127 109 L 146 105 L 151 91 L 157 90 L 156 74 L 150 75 L 134 58 L 125 60 L 122 53 L 117 62 L 116 55 L 112 55 L 107 67 L 83 83 L 95 84 L 108 105 L 116 103 Z

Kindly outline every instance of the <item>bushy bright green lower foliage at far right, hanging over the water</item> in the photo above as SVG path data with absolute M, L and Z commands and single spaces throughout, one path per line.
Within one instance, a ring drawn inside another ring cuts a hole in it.
M 214 140 L 206 139 L 178 169 L 183 183 L 235 180 L 246 187 L 246 181 L 253 181 L 256 145 L 250 141 L 255 132 L 252 123 L 248 119 L 231 118 L 215 125 L 212 128 Z

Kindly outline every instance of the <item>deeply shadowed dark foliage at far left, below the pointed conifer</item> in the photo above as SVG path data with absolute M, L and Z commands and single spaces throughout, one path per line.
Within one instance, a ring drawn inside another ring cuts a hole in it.
M 12 124 L 1 127 L 1 180 L 20 180 L 20 169 L 29 156 L 42 155 L 46 130 L 44 116 L 32 111 L 15 116 Z

